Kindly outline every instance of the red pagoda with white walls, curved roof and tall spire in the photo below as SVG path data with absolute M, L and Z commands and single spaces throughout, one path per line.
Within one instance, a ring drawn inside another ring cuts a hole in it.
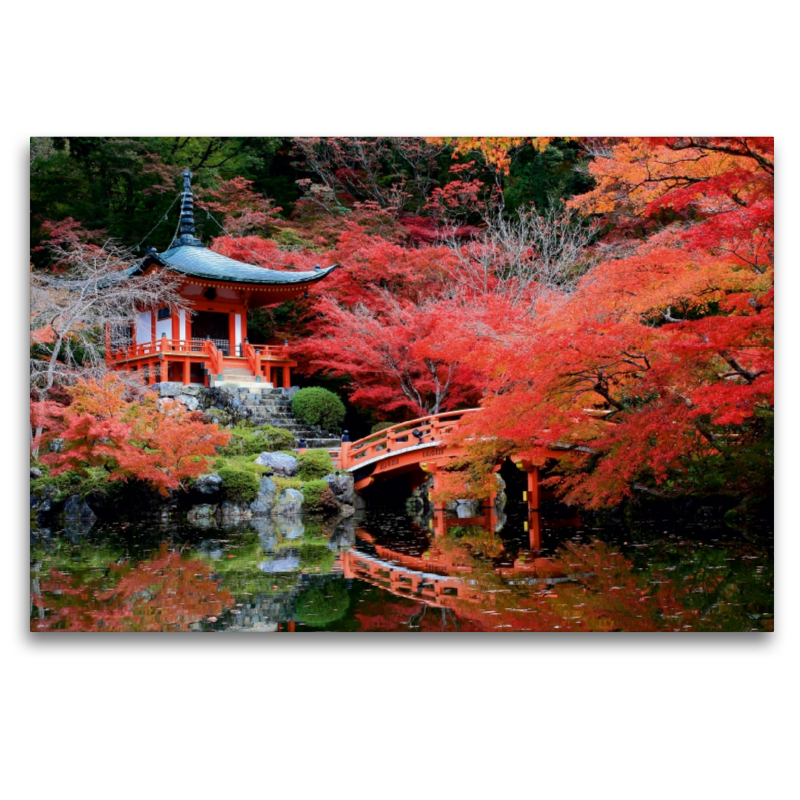
M 168 270 L 190 310 L 142 309 L 131 326 L 109 326 L 106 360 L 113 369 L 143 372 L 147 383 L 261 383 L 289 388 L 297 366 L 284 345 L 251 344 L 247 310 L 299 297 L 331 267 L 289 272 L 245 264 L 215 253 L 195 237 L 192 173 L 183 172 L 180 235 L 164 253 L 148 251 L 131 275 Z

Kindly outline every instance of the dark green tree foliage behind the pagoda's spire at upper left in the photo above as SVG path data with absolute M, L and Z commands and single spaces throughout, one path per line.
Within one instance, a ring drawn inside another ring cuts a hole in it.
M 32 143 L 31 237 L 38 243 L 44 219 L 73 217 L 86 228 L 136 243 L 163 220 L 188 166 L 194 185 L 244 177 L 253 189 L 286 211 L 297 197 L 295 175 L 283 140 L 267 137 L 53 137 Z M 287 174 L 288 173 L 288 174 Z M 171 240 L 178 207 L 147 244 L 164 250 Z M 196 214 L 204 241 L 219 234 L 205 214 Z

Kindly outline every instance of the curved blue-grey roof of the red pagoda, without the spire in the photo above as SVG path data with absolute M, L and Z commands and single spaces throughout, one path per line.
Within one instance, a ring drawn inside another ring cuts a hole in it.
M 192 278 L 223 283 L 257 284 L 261 286 L 291 286 L 298 283 L 315 283 L 332 272 L 338 264 L 320 269 L 294 272 L 267 269 L 245 264 L 215 253 L 202 245 L 189 244 L 172 247 L 164 253 L 151 253 L 150 263 L 158 263 L 171 272 Z M 148 261 L 148 259 L 145 259 Z M 144 266 L 144 262 L 142 264 Z

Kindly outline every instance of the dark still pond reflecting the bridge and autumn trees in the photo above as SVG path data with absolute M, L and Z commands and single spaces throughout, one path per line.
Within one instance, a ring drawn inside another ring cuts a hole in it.
M 32 631 L 770 631 L 767 525 L 372 509 L 31 534 Z

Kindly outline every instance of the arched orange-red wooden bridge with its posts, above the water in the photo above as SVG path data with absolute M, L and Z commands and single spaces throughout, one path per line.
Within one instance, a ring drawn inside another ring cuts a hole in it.
M 342 442 L 341 451 L 335 454 L 338 466 L 353 475 L 357 492 L 362 492 L 375 481 L 404 474 L 409 474 L 412 481 L 420 485 L 425 473 L 433 475 L 433 488 L 438 491 L 443 470 L 455 459 L 466 455 L 464 446 L 455 438 L 458 424 L 480 411 L 479 408 L 470 408 L 433 414 L 392 425 L 356 442 Z M 547 455 L 558 457 L 559 453 L 548 452 Z M 526 500 L 528 507 L 536 510 L 542 499 L 539 467 L 527 459 L 515 461 L 528 475 Z M 495 471 L 499 469 L 498 464 Z M 485 501 L 484 509 L 493 506 L 494 501 L 493 493 Z

